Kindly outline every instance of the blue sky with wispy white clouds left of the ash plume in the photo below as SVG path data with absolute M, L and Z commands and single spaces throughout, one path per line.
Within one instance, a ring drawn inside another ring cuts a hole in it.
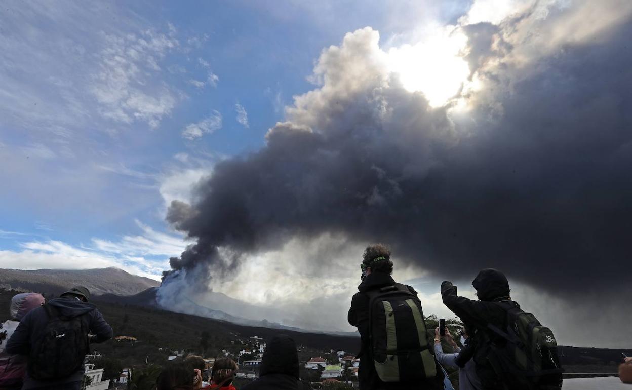
M 469 5 L 4 3 L 3 266 L 86 267 L 14 255 L 71 247 L 159 273 L 179 252 L 109 253 L 95 241 L 148 231 L 179 240 L 164 222 L 166 202 L 186 197 L 219 159 L 262 147 L 293 95 L 314 88 L 308 76 L 322 49 L 366 26 L 398 44 Z M 42 247 L 49 242 L 60 248 Z

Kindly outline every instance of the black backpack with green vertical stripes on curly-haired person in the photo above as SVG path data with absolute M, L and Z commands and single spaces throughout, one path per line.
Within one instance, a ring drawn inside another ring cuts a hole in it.
M 367 291 L 375 371 L 382 382 L 417 383 L 437 375 L 422 303 L 404 284 Z

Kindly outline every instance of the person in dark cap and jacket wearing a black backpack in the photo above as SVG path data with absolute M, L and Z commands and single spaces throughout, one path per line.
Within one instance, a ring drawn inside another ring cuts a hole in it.
M 89 299 L 90 291 L 76 286 L 21 319 L 6 351 L 28 356 L 23 390 L 81 388 L 83 358 L 90 352 L 88 344 L 112 338 L 112 327 L 96 305 L 88 303 Z M 66 339 L 73 344 L 66 345 Z M 54 350 L 54 345 L 63 348 Z

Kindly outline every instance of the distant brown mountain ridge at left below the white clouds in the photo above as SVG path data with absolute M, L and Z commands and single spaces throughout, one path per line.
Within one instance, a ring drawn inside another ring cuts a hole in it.
M 80 284 L 94 295 L 134 295 L 147 288 L 159 286 L 148 277 L 136 276 L 116 267 L 100 269 L 0 269 L 0 287 L 40 291 L 57 295 Z

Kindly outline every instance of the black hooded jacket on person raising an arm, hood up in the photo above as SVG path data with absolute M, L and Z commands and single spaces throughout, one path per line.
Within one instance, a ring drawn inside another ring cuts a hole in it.
M 485 390 L 504 389 L 497 375 L 487 362 L 490 343 L 492 341 L 504 342 L 489 330 L 488 324 L 493 324 L 501 329 L 506 327 L 507 312 L 500 305 L 493 302 L 511 300 L 509 298 L 509 282 L 507 277 L 495 269 L 483 269 L 472 281 L 477 291 L 478 301 L 469 300 L 464 296 L 457 296 L 454 285 L 449 281 L 441 284 L 441 297 L 443 303 L 461 317 L 463 322 L 477 329 L 474 352 L 477 375 Z

